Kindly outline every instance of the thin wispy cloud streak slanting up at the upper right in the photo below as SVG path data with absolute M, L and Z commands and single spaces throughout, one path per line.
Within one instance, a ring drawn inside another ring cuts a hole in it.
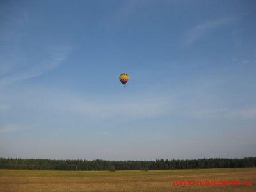
M 204 24 L 198 24 L 191 28 L 184 37 L 184 44 L 192 44 L 196 40 L 204 37 L 209 33 L 212 29 L 219 28 L 225 24 L 230 24 L 230 22 L 234 21 L 234 17 L 225 17 L 222 19 L 211 20 Z

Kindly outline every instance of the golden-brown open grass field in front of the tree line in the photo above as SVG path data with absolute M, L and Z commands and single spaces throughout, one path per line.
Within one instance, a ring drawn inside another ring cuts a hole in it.
M 175 181 L 192 181 L 193 186 L 175 186 Z M 214 181 L 217 186 L 213 186 Z M 0 170 L 0 191 L 256 191 L 256 168 L 116 172 Z

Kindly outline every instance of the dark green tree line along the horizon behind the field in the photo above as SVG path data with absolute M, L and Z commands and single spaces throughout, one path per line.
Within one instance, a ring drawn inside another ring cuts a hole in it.
M 12 159 L 0 158 L 0 169 L 28 170 L 180 170 L 205 168 L 247 168 L 256 166 L 256 157 L 243 159 L 194 159 L 156 161 L 106 161 L 51 160 L 51 159 Z

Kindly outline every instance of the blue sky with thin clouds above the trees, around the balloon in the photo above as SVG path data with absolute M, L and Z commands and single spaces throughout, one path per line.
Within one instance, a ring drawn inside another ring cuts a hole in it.
M 1 157 L 256 156 L 255 1 L 2 0 L 0 26 Z

